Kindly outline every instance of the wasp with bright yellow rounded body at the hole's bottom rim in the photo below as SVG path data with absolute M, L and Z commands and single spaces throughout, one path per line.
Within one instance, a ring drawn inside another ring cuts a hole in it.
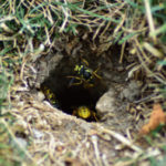
M 93 120 L 97 122 L 96 113 L 90 110 L 87 106 L 79 106 L 73 111 L 73 115 L 86 121 Z

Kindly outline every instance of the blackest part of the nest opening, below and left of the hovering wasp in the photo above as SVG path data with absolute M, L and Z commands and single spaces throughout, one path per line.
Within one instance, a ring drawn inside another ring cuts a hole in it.
M 92 87 L 85 89 L 83 84 L 70 86 L 71 77 L 68 76 L 75 75 L 75 64 L 79 64 L 77 60 L 63 58 L 59 65 L 52 70 L 50 76 L 42 83 L 42 86 L 51 90 L 55 95 L 60 110 L 66 114 L 72 115 L 73 111 L 80 106 L 87 106 L 96 113 L 95 104 L 106 91 L 106 86 L 102 80 L 96 77 L 94 77 L 94 86 Z M 96 66 L 94 65 L 93 68 Z

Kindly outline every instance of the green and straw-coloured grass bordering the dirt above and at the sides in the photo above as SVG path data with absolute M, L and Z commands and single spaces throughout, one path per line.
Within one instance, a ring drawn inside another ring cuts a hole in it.
M 116 11 L 116 12 L 114 12 Z M 92 40 L 102 39 L 98 53 L 113 44 L 122 45 L 121 62 L 127 44 L 138 58 L 139 65 L 147 76 L 151 91 L 165 94 L 165 44 L 166 44 L 166 2 L 164 0 L 129 0 L 113 3 L 89 1 L 8 1 L 0 2 L 0 165 L 21 165 L 22 153 L 15 153 L 9 142 L 12 85 L 24 60 L 38 59 L 49 52 L 52 43 L 61 35 L 79 34 L 83 27 L 93 32 Z M 108 32 L 108 37 L 107 33 Z M 146 43 L 145 43 L 146 42 Z M 135 71 L 139 72 L 139 71 Z M 19 74 L 18 74 L 19 73 Z M 133 77 L 135 77 L 133 73 Z M 156 94 L 158 102 L 165 105 L 165 95 Z M 17 121 L 17 120 L 15 120 Z M 14 123 L 14 122 L 12 122 Z M 19 152 L 19 147 L 17 147 Z M 13 156 L 14 154 L 14 156 Z M 25 154 L 25 153 L 23 153 Z M 15 157 L 18 156 L 18 157 Z M 14 159 L 14 157 L 17 159 Z M 162 166 L 165 162 L 149 157 L 152 165 Z

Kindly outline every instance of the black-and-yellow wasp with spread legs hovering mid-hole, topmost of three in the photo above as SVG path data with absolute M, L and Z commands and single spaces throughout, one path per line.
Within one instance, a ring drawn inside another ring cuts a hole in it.
M 102 79 L 98 74 L 97 71 L 100 68 L 97 68 L 95 71 L 91 70 L 89 68 L 89 62 L 86 60 L 82 60 L 82 64 L 76 64 L 74 68 L 75 76 L 66 76 L 71 77 L 72 80 L 70 81 L 69 86 L 72 85 L 81 85 L 83 84 L 84 87 L 92 87 L 94 86 L 94 79 Z M 75 82 L 79 81 L 79 82 Z

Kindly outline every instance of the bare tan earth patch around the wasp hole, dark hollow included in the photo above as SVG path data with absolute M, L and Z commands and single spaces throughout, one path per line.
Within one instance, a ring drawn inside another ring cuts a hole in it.
M 127 157 L 135 148 L 122 146 L 116 136 L 103 129 L 115 131 L 124 139 L 134 137 L 138 131 L 136 116 L 127 106 L 139 98 L 141 86 L 137 81 L 126 81 L 128 62 L 118 63 L 120 46 L 114 45 L 98 55 L 89 40 L 73 38 L 55 43 L 61 48 L 55 44 L 49 54 L 32 64 L 37 75 L 29 77 L 30 91 L 23 97 L 27 106 L 15 105 L 30 126 L 28 133 L 33 139 L 30 153 L 35 159 L 48 154 L 39 162 L 42 165 L 74 166 L 75 158 L 80 165 L 110 165 L 118 157 Z M 100 69 L 97 74 L 102 79 L 94 77 L 93 86 L 87 89 L 83 84 L 69 86 L 68 76 L 73 76 L 75 64 L 84 60 L 92 71 Z M 42 85 L 54 93 L 60 108 L 44 100 Z M 90 106 L 98 121 L 90 123 L 73 116 L 73 107 L 81 105 Z

